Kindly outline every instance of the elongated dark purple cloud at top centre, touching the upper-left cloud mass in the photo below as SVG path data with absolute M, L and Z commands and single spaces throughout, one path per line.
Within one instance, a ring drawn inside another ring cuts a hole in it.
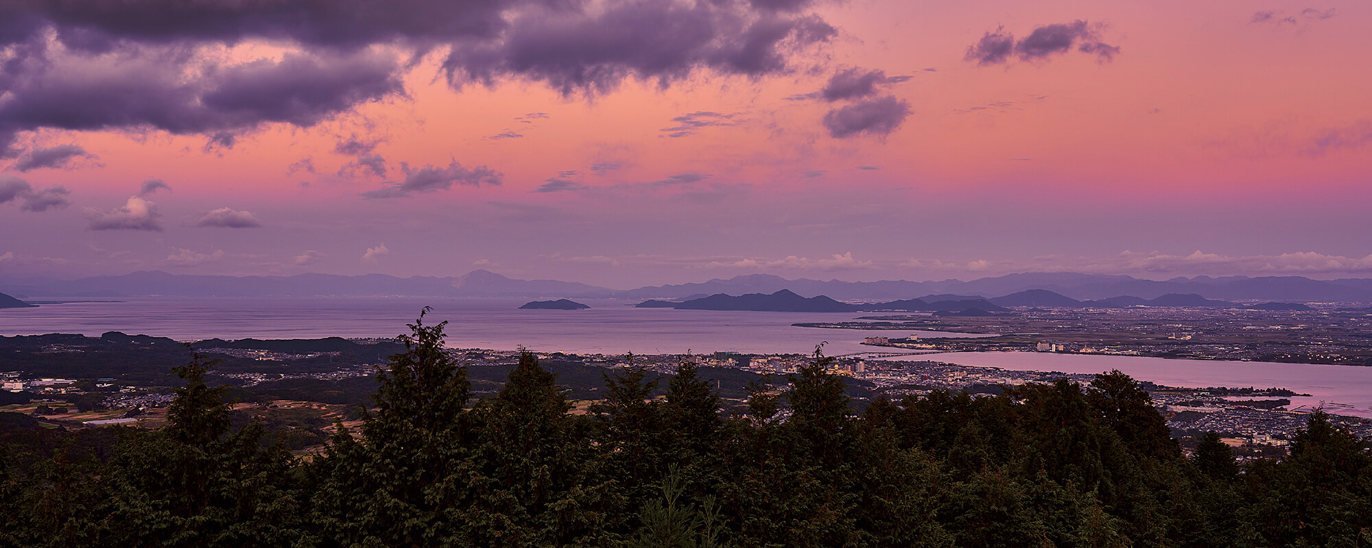
M 521 77 L 563 95 L 597 93 L 624 78 L 667 86 L 697 68 L 752 77 L 783 73 L 792 53 L 836 33 L 814 15 L 759 14 L 730 1 L 528 10 L 495 40 L 453 44 L 443 70 L 458 86 Z

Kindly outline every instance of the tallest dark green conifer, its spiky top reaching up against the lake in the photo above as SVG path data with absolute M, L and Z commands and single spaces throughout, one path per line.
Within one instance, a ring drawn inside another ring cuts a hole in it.
M 377 371 L 376 411 L 364 410 L 361 443 L 339 425 L 314 477 L 317 522 L 342 545 L 421 545 L 461 538 L 464 463 L 475 438 L 465 411 L 466 369 L 443 351 L 447 322 L 425 307 L 397 337 L 406 351 Z

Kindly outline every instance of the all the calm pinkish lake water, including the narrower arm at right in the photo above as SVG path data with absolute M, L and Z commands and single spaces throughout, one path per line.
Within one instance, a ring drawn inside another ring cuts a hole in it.
M 33 300 L 43 300 L 34 297 Z M 797 322 L 837 322 L 852 314 L 737 312 L 634 308 L 623 300 L 582 300 L 591 310 L 517 310 L 523 299 L 425 297 L 288 297 L 288 299 L 121 299 L 119 303 L 44 304 L 0 310 L 0 334 L 104 332 L 176 340 L 394 337 L 407 333 L 420 308 L 428 319 L 447 321 L 454 348 L 573 353 L 696 353 L 734 351 L 809 353 L 827 341 L 825 353 L 871 351 L 870 336 L 956 337 L 956 333 L 793 327 Z M 915 358 L 907 358 L 915 359 Z M 1339 414 L 1372 416 L 1372 367 L 1257 362 L 1176 360 L 1140 356 L 1063 355 L 1048 352 L 956 352 L 927 359 L 1026 371 L 1102 373 L 1118 369 L 1135 378 L 1169 386 L 1283 386 L 1312 397 L 1292 406 L 1339 403 Z

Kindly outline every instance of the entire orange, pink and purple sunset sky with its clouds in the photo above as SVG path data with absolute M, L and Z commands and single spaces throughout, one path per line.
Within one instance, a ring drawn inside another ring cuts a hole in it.
M 0 0 L 0 274 L 1372 277 L 1372 3 Z

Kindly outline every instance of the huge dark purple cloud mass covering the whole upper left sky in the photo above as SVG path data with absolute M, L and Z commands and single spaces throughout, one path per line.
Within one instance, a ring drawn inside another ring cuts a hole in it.
M 564 95 L 626 78 L 665 86 L 697 70 L 779 74 L 837 34 L 800 14 L 809 3 L 0 0 L 0 158 L 44 127 L 203 134 L 222 152 L 262 123 L 307 127 L 403 96 L 405 74 L 432 51 L 446 51 L 453 86 L 523 78 Z M 222 48 L 250 40 L 288 52 L 224 66 Z

